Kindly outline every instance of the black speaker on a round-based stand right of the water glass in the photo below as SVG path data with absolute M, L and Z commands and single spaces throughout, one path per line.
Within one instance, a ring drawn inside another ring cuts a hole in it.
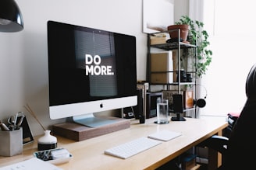
M 183 113 L 183 95 L 173 94 L 173 113 L 176 113 L 176 117 L 172 117 L 172 121 L 185 121 L 186 119 L 180 117 L 180 114 Z

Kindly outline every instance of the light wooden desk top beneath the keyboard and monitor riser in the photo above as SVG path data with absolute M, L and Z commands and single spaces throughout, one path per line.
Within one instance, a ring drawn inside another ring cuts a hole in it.
M 86 141 L 71 141 L 63 137 L 58 138 L 58 147 L 65 147 L 73 159 L 66 164 L 58 165 L 63 169 L 155 169 L 166 162 L 183 154 L 201 141 L 213 134 L 221 133 L 227 123 L 219 120 L 201 120 L 187 118 L 185 122 L 170 122 L 169 124 L 155 124 L 155 118 L 139 124 L 139 120 L 131 120 L 131 127 L 112 134 L 94 137 Z M 147 137 L 158 130 L 172 130 L 183 134 L 171 141 L 163 142 L 156 147 L 137 154 L 131 158 L 120 159 L 104 154 L 105 149 L 123 144 L 138 137 Z M 37 139 L 36 139 L 37 140 Z M 13 157 L 0 157 L 0 167 L 32 158 L 37 151 L 37 141 L 23 147 L 23 154 Z

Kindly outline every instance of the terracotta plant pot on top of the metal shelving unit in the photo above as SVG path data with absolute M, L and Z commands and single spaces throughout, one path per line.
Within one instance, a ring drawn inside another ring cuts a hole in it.
M 187 42 L 187 35 L 188 31 L 190 29 L 189 25 L 183 24 L 183 25 L 172 25 L 167 27 L 169 31 L 169 34 L 171 36 L 171 39 L 178 39 L 179 38 L 179 29 L 180 29 L 180 38 L 182 42 Z

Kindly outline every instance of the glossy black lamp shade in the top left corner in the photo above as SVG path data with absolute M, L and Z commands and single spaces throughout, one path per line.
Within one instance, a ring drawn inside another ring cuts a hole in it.
M 17 32 L 23 29 L 23 17 L 14 0 L 0 0 L 0 32 Z

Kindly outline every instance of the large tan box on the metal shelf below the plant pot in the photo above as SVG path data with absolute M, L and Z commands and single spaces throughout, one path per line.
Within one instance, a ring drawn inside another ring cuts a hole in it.
M 151 54 L 151 83 L 172 83 L 172 68 L 172 51 Z

